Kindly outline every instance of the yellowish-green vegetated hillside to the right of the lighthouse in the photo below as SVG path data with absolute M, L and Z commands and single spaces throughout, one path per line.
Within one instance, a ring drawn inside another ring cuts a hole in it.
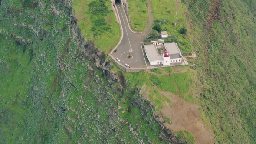
M 219 144 L 256 144 L 256 1 L 181 0 L 188 7 L 200 101 Z

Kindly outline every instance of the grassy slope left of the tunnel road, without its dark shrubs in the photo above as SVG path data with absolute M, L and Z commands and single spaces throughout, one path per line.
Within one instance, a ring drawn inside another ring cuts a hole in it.
M 73 9 L 76 13 L 76 18 L 78 19 L 79 28 L 81 29 L 85 39 L 91 40 L 102 51 L 110 52 L 120 39 L 120 26 L 116 21 L 115 13 L 111 11 L 111 2 L 105 1 L 110 13 L 107 13 L 106 16 L 97 15 L 93 18 L 105 18 L 106 22 L 108 23 L 107 25 L 109 25 L 112 29 L 110 31 L 100 30 L 100 35 L 93 36 L 93 33 L 95 32 L 91 30 L 92 27 L 96 27 L 97 29 L 101 28 L 92 23 L 91 17 L 93 15 L 89 12 L 88 7 L 88 3 L 91 1 L 93 0 L 74 0 Z M 109 47 L 110 49 L 108 49 Z

